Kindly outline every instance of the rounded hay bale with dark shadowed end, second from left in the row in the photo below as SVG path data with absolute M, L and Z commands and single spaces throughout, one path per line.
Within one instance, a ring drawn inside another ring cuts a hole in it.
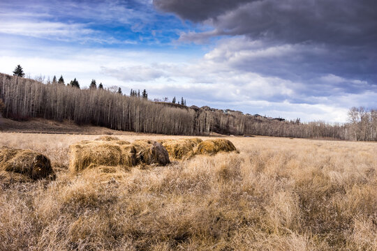
M 170 163 L 168 151 L 154 140 L 135 140 L 132 145 L 136 149 L 136 158 L 142 164 L 167 165 Z

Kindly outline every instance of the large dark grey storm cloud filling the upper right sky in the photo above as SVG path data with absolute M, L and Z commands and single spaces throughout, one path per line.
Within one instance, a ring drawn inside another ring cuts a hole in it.
M 210 53 L 213 61 L 301 82 L 303 96 L 376 92 L 377 1 L 154 0 L 154 5 L 213 26 L 183 33 L 180 40 L 230 36 Z M 325 81 L 327 76 L 342 80 Z

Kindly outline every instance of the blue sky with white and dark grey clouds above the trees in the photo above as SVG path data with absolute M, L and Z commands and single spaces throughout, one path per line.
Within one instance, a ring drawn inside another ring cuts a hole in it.
M 375 0 L 1 0 L 0 72 L 344 123 L 377 107 Z

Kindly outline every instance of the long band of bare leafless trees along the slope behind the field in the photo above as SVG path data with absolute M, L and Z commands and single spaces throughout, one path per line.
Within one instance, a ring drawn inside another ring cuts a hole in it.
M 91 85 L 94 84 L 92 81 Z M 151 102 L 147 98 L 119 95 L 116 91 L 103 88 L 79 89 L 65 84 L 43 84 L 1 73 L 0 98 L 3 100 L 3 116 L 17 120 L 36 117 L 57 121 L 68 119 L 77 124 L 167 135 L 207 135 L 217 132 L 228 135 L 377 140 L 377 112 L 362 107 L 350 109 L 350 123 L 300 123 L 300 120 L 284 121 L 239 112 Z

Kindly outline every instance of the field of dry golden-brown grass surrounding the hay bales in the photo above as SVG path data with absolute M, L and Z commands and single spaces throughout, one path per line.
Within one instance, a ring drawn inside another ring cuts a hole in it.
M 70 174 L 96 137 L 0 133 L 57 172 L 0 183 L 0 250 L 377 250 L 376 143 L 228 137 L 239 153 Z

